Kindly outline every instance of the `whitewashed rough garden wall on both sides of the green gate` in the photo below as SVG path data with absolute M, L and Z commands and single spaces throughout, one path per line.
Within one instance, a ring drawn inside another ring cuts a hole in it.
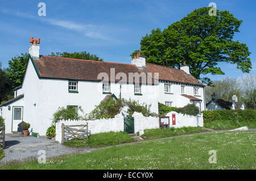
M 134 112 L 134 133 L 143 131 L 144 129 L 159 128 L 158 117 L 144 117 L 142 113 Z M 98 119 L 98 120 L 61 120 L 56 123 L 56 137 L 55 140 L 61 142 L 61 124 L 64 125 L 79 125 L 88 123 L 90 134 L 104 133 L 104 132 L 119 132 L 124 131 L 123 116 L 121 113 L 112 119 Z

